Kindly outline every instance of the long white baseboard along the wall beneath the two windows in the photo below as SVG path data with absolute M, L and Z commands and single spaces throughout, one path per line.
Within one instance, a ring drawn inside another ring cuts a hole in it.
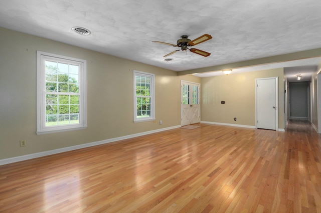
M 37 153 L 33 153 L 33 154 L 27 154 L 27 155 L 22 155 L 22 156 L 17 156 L 17 157 L 0 159 L 0 165 L 13 163 L 13 162 L 19 162 L 19 161 L 33 159 L 33 158 L 42 157 L 42 156 L 47 156 L 47 155 L 51 155 L 51 154 L 57 154 L 57 153 L 65 152 L 65 151 L 76 150 L 76 149 L 80 149 L 80 148 L 86 148 L 86 147 L 100 145 L 100 144 L 109 143 L 109 142 L 115 142 L 118 140 L 129 139 L 129 138 L 133 138 L 133 137 L 138 137 L 138 136 L 142 136 L 142 135 L 146 135 L 146 134 L 156 133 L 156 132 L 170 130 L 170 129 L 179 128 L 179 127 L 181 127 L 181 125 L 171 126 L 171 127 L 167 127 L 167 128 L 161 128 L 161 129 L 155 129 L 155 130 L 140 132 L 140 133 L 136 133 L 136 134 L 130 134 L 130 135 L 126 135 L 126 136 L 115 137 L 115 138 L 111 138 L 111 139 L 100 140 L 100 141 L 95 141 L 95 142 L 90 142 L 90 143 L 85 143 L 85 144 L 80 144 L 80 145 L 74 145 L 74 146 L 69 146 L 69 147 L 64 147 L 64 148 L 58 148 L 58 149 L 49 150 L 49 151 L 42 151 L 42 152 L 37 152 Z

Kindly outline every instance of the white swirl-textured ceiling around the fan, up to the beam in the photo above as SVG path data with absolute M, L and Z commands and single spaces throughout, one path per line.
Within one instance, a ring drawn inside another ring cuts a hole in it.
M 320 8 L 320 0 L 2 0 L 0 26 L 182 71 L 319 48 Z M 213 39 L 195 47 L 209 57 L 178 51 L 164 61 L 178 48 L 151 42 L 204 33 Z

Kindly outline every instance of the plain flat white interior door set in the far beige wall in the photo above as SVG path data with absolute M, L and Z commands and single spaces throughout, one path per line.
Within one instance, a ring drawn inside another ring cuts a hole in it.
M 256 127 L 278 128 L 277 77 L 256 79 Z

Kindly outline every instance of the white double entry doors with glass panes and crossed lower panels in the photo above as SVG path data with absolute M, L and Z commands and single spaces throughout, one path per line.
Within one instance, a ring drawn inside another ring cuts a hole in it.
M 199 83 L 181 81 L 181 126 L 200 122 L 200 87 Z

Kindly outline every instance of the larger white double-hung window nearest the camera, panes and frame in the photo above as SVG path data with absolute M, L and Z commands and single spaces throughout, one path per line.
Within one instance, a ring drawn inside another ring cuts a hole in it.
M 37 134 L 86 126 L 86 60 L 37 51 Z

